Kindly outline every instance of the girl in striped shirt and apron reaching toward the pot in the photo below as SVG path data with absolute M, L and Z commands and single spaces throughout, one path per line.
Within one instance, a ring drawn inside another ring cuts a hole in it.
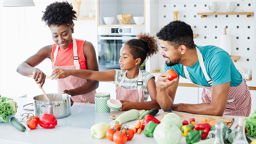
M 139 69 L 144 60 L 158 52 L 157 41 L 148 34 L 137 35 L 120 50 L 121 70 L 91 71 L 55 69 L 52 79 L 65 78 L 69 75 L 97 81 L 113 81 L 116 88 L 116 99 L 122 103 L 122 110 L 160 108 L 156 102 L 155 77 Z M 152 101 L 147 102 L 150 95 Z M 140 103 L 142 102 L 142 103 Z

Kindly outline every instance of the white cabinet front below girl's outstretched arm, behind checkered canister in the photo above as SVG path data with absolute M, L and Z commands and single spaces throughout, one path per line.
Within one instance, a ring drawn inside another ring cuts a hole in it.
M 110 98 L 115 98 L 115 84 L 112 82 L 101 82 L 99 83 L 99 93 L 110 93 Z M 98 91 L 97 91 L 98 92 Z

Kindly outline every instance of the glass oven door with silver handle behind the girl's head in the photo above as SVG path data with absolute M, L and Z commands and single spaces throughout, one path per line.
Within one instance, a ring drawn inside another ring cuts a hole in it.
M 119 69 L 120 49 L 124 43 L 135 36 L 98 36 L 99 70 Z M 142 64 L 144 65 L 144 64 Z M 145 70 L 145 66 L 141 68 Z

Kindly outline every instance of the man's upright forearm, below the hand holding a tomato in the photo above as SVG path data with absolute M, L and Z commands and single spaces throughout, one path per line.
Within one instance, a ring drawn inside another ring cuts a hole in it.
M 156 101 L 165 112 L 173 106 L 173 99 L 168 95 L 166 90 L 157 90 Z

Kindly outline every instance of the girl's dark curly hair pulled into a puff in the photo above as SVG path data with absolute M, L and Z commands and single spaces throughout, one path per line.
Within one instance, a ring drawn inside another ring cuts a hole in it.
M 130 47 L 130 53 L 133 56 L 133 59 L 141 58 L 140 65 L 153 56 L 153 54 L 157 54 L 158 45 L 155 37 L 150 36 L 146 33 L 140 33 L 137 35 L 138 39 L 131 39 L 125 43 L 125 45 Z

